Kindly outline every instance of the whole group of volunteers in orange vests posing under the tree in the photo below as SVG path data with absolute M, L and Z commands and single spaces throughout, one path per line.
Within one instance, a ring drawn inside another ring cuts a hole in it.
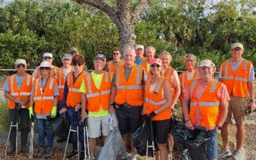
M 242 58 L 243 52 L 243 44 L 231 44 L 231 58 L 221 64 L 218 80 L 213 77 L 216 66 L 211 60 L 197 63 L 195 55 L 186 54 L 183 61 L 186 71 L 178 75 L 170 65 L 172 56 L 169 52 L 163 51 L 159 58 L 155 58 L 156 49 L 143 45 L 125 49 L 122 59 L 120 50 L 115 49 L 113 60 L 108 62 L 104 54 L 97 54 L 92 72 L 86 72 L 85 58 L 74 47 L 63 55 L 61 68 L 52 65 L 52 54 L 45 52 L 32 76 L 26 73 L 26 61 L 18 59 L 15 61 L 17 73 L 8 76 L 4 83 L 9 124 L 17 122 L 15 112 L 19 111 L 21 152 L 26 154 L 29 117 L 35 115 L 39 143 L 35 156 L 46 159 L 52 155 L 54 139 L 51 121 L 47 118 L 54 118 L 58 111 L 67 112 L 73 148 L 66 159 L 78 154 L 79 159 L 84 159 L 83 120 L 87 118 L 87 143 L 91 159 L 95 159 L 97 138 L 102 135 L 106 139 L 109 118 L 115 113 L 126 148 L 121 158 L 128 159 L 127 151 L 131 151 L 133 160 L 137 152 L 130 135 L 140 127 L 142 117 L 147 116 L 152 122 L 157 144 L 156 159 L 165 160 L 172 159 L 174 142 L 170 122 L 180 100 L 186 128 L 202 127 L 209 132 L 210 139 L 206 141 L 208 159 L 232 156 L 229 146 L 232 114 L 237 127 L 233 159 L 246 159 L 243 148 L 245 111 L 247 105 L 254 111 L 255 93 L 254 68 L 252 62 Z M 74 132 L 77 127 L 79 136 Z M 223 150 L 218 154 L 220 131 Z M 8 155 L 16 151 L 15 137 L 12 127 Z M 80 153 L 77 138 L 81 143 Z

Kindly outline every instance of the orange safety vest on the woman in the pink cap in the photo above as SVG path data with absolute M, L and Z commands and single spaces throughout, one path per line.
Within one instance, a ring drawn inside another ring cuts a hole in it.
M 163 106 L 166 103 L 166 98 L 163 97 L 163 85 L 165 78 L 160 77 L 157 81 L 155 89 L 150 92 L 151 78 L 146 81 L 146 90 L 145 90 L 145 113 L 149 115 L 157 108 Z M 171 108 L 166 108 L 161 113 L 158 113 L 152 120 L 168 120 L 172 118 Z

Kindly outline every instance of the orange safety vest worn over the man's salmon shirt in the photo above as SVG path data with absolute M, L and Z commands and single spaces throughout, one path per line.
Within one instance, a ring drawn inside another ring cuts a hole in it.
M 201 97 L 196 99 L 194 95 L 199 83 L 198 81 L 199 79 L 195 79 L 191 83 L 189 119 L 191 120 L 192 124 L 195 125 L 196 108 L 199 108 L 202 116 L 201 124 L 208 128 L 215 127 L 220 116 L 220 100 L 218 99 L 218 90 L 221 83 L 215 79 L 212 79 L 211 83 L 209 83 L 205 88 Z

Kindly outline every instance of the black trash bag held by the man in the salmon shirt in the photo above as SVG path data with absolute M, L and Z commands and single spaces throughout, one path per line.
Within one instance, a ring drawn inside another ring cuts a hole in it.
M 200 127 L 190 131 L 184 125 L 177 125 L 172 129 L 172 135 L 179 150 L 180 159 L 207 159 L 205 141 L 210 139 L 207 131 Z

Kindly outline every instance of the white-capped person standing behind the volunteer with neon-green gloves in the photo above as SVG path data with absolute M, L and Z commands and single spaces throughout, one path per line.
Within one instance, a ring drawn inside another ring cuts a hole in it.
M 49 63 L 52 64 L 52 61 L 53 61 L 52 54 L 50 52 L 45 52 L 43 55 L 43 61 L 48 61 Z M 51 76 L 58 79 L 59 74 L 60 74 L 60 68 L 52 65 Z M 40 66 L 39 66 L 39 67 L 36 67 L 32 76 L 35 78 L 38 78 L 38 77 L 40 77 L 40 75 L 41 74 L 40 74 Z

